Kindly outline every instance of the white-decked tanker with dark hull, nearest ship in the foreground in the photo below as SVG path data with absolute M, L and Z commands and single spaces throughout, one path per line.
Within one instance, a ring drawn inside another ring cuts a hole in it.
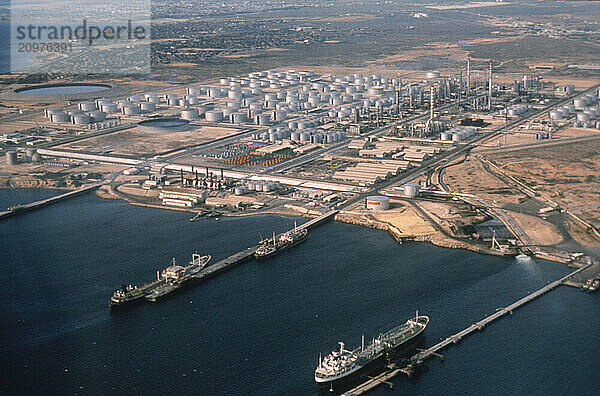
M 380 334 L 371 343 L 365 345 L 364 336 L 362 345 L 352 351 L 340 348 L 331 352 L 324 359 L 319 356 L 319 363 L 315 370 L 315 381 L 319 385 L 333 386 L 334 384 L 350 381 L 361 373 L 383 365 L 386 358 L 393 358 L 412 352 L 425 334 L 429 323 L 427 316 L 419 316 L 397 326 L 390 331 Z

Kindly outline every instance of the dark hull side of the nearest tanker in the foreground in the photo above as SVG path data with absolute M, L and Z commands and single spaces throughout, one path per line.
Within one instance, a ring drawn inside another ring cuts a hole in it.
M 378 374 L 385 369 L 386 364 L 388 364 L 389 360 L 396 360 L 407 355 L 411 354 L 415 351 L 416 347 L 423 340 L 425 336 L 425 330 L 403 342 L 402 344 L 396 346 L 395 348 L 389 350 L 387 353 L 383 353 L 380 356 L 372 359 L 367 364 L 363 365 L 360 369 L 346 374 L 342 377 L 337 377 L 332 380 L 320 379 L 317 381 L 317 384 L 321 387 L 323 391 L 330 391 L 333 389 L 335 392 L 343 392 L 352 388 L 354 385 L 362 383 L 368 379 L 368 376 L 372 376 L 374 374 Z M 317 378 L 315 378 L 317 380 Z

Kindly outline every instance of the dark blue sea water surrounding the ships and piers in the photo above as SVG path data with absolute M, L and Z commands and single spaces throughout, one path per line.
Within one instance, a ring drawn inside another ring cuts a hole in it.
M 319 352 L 337 341 L 358 346 L 418 309 L 430 345 L 568 273 L 329 223 L 274 259 L 111 313 L 115 288 L 173 256 L 218 260 L 304 221 L 189 217 L 87 195 L 0 221 L 0 393 L 316 394 Z M 395 391 L 595 394 L 599 298 L 560 287 L 394 379 Z

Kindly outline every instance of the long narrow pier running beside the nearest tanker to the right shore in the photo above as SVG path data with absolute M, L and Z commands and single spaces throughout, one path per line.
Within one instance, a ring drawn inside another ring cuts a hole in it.
M 503 317 L 506 314 L 512 315 L 514 310 L 537 299 L 538 297 L 548 293 L 549 291 L 554 290 L 558 286 L 563 285 L 563 284 L 568 285 L 570 283 L 569 279 L 571 277 L 573 277 L 574 275 L 576 275 L 580 272 L 587 270 L 592 265 L 593 264 L 591 264 L 591 263 L 584 265 L 583 267 L 571 272 L 570 274 L 563 276 L 562 278 L 560 278 L 552 283 L 549 283 L 548 285 L 542 287 L 539 290 L 534 291 L 533 293 L 521 298 L 518 301 L 515 301 L 514 303 L 508 305 L 507 307 L 499 308 L 494 314 L 480 320 L 479 322 L 473 323 L 471 326 L 467 327 L 466 329 L 459 331 L 458 333 L 456 333 L 454 335 L 451 335 L 450 337 L 435 344 L 434 346 L 430 347 L 429 349 L 426 349 L 424 351 L 414 354 L 413 356 L 410 357 L 410 363 L 407 366 L 402 367 L 402 368 L 398 368 L 396 366 L 388 367 L 387 370 L 385 370 L 383 373 L 379 374 L 376 377 L 369 379 L 368 381 L 363 382 L 362 384 L 358 385 L 357 387 L 345 392 L 343 395 L 344 396 L 360 395 L 365 392 L 368 392 L 369 390 L 371 390 L 381 384 L 385 383 L 385 384 L 389 385 L 390 383 L 388 382 L 388 380 L 393 378 L 394 376 L 396 376 L 399 373 L 404 373 L 408 376 L 412 375 L 412 373 L 415 370 L 415 367 L 419 366 L 420 364 L 422 364 L 423 362 L 425 362 L 427 359 L 429 359 L 431 357 L 440 356 L 437 353 L 438 351 L 440 351 L 452 344 L 457 344 L 461 339 L 472 334 L 475 331 L 483 330 L 483 328 L 486 325 Z

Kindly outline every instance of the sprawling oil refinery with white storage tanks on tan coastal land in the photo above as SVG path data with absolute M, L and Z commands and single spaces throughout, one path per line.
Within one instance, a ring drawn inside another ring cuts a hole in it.
M 2 114 L 0 183 L 100 182 L 103 197 L 196 218 L 336 209 L 399 242 L 581 267 L 600 253 L 600 85 L 496 68 L 17 89 L 2 94 L 19 111 Z

